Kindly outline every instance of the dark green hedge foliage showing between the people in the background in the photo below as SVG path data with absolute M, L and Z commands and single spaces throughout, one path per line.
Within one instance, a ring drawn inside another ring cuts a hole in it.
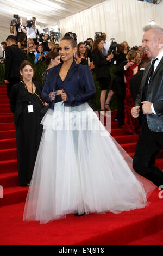
M 39 63 L 34 64 L 35 57 L 29 57 L 29 56 L 27 57 L 27 60 L 30 63 L 32 63 L 32 65 L 34 67 L 34 71 L 35 71 L 34 80 L 41 82 L 42 74 L 47 69 L 45 62 L 39 61 Z M 115 71 L 115 66 L 113 66 L 113 65 L 110 66 L 111 77 L 114 76 L 114 71 Z M 4 72 L 5 72 L 5 62 L 0 63 L 0 84 L 4 84 Z M 101 95 L 101 89 L 99 87 L 98 81 L 96 81 L 96 79 L 95 79 L 95 74 L 92 74 L 92 76 L 93 76 L 93 80 L 95 82 L 96 96 L 93 100 L 91 100 L 91 105 L 92 105 L 93 110 L 100 110 L 101 105 L 100 105 L 99 99 L 100 99 L 100 95 Z M 108 92 L 109 92 L 109 90 L 108 90 Z M 106 95 L 108 95 L 108 92 Z M 112 100 L 110 102 L 110 108 L 112 110 L 117 109 L 115 95 L 112 97 Z

